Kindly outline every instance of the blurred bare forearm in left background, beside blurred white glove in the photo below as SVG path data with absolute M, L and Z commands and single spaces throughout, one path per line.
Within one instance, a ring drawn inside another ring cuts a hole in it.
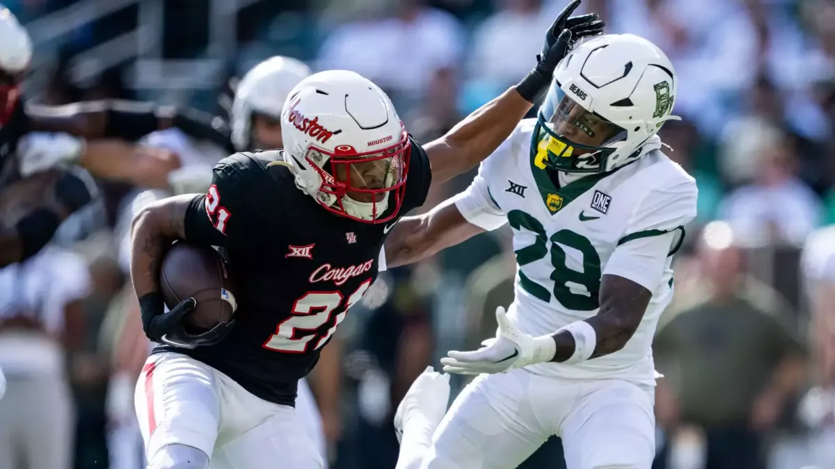
M 79 164 L 90 174 L 149 189 L 168 189 L 168 176 L 180 168 L 174 154 L 145 149 L 122 140 L 88 142 Z

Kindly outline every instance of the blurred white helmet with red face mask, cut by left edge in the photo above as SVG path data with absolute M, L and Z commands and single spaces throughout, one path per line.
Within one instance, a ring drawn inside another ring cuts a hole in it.
M 29 33 L 0 5 L 0 126 L 8 122 L 18 104 L 20 83 L 31 59 Z

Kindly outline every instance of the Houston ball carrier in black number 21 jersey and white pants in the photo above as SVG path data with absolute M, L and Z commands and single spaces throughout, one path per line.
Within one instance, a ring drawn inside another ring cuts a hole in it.
M 471 169 L 548 88 L 573 38 L 602 32 L 596 15 L 546 34 L 518 85 L 421 145 L 390 99 L 357 73 L 316 73 L 281 113 L 283 151 L 235 154 L 206 194 L 160 200 L 134 219 L 131 276 L 145 333 L 161 345 L 137 386 L 149 468 L 321 467 L 292 409 L 296 382 L 316 365 L 347 310 L 377 276 L 392 226 L 430 184 Z M 235 320 L 184 329 L 186 299 L 164 313 L 159 265 L 173 240 L 221 246 L 235 278 Z M 233 327 L 234 325 L 234 327 Z

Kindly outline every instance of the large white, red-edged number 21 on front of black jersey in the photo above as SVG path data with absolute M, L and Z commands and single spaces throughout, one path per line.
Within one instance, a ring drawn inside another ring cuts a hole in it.
M 278 323 L 276 333 L 264 342 L 264 348 L 285 353 L 305 353 L 321 348 L 337 330 L 339 323 L 345 319 L 348 309 L 362 299 L 371 282 L 372 279 L 362 282 L 357 290 L 348 296 L 344 305 L 342 300 L 345 298 L 339 291 L 308 291 L 301 295 L 301 298 L 293 303 L 291 316 Z M 333 325 L 324 332 L 318 331 L 331 320 L 334 313 L 336 317 Z

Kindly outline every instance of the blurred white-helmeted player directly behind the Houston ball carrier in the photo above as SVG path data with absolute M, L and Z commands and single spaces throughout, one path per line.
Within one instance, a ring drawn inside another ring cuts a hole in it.
M 126 204 L 122 216 L 122 236 L 120 260 L 124 271 L 129 272 L 130 264 L 130 234 L 129 221 L 134 214 L 146 204 L 155 199 L 163 199 L 170 195 L 193 194 L 205 192 L 212 179 L 212 168 L 220 159 L 231 151 L 256 151 L 257 149 L 280 149 L 281 140 L 281 108 L 287 94 L 302 79 L 311 74 L 310 68 L 304 63 L 286 57 L 272 57 L 257 64 L 247 72 L 235 86 L 235 95 L 230 109 L 229 142 L 221 147 L 212 142 L 190 138 L 179 129 L 166 129 L 149 134 L 140 140 L 140 144 L 154 149 L 167 149 L 180 157 L 181 166 L 170 174 L 171 191 L 154 191 L 137 194 L 133 201 Z M 139 304 L 133 295 L 133 289 L 126 285 L 129 291 L 125 295 L 127 311 L 121 314 L 129 315 L 122 328 L 123 340 L 116 345 L 119 359 L 117 366 L 121 371 L 114 376 L 114 421 L 122 422 L 115 428 L 111 438 L 111 447 L 127 448 L 124 451 L 114 451 L 114 468 L 129 469 L 134 458 L 132 436 L 139 439 L 141 434 L 136 426 L 133 413 L 133 388 L 139 371 L 147 359 L 147 352 L 151 344 L 142 334 L 139 322 Z M 128 337 L 129 336 L 129 337 Z M 137 349 L 137 340 L 141 342 Z M 326 440 L 333 442 L 339 431 L 339 383 L 340 383 L 340 350 L 338 340 L 331 340 L 330 347 L 322 353 L 319 368 L 313 376 L 316 386 L 316 400 L 314 400 L 306 380 L 299 383 L 296 397 L 296 410 L 300 421 L 305 426 L 311 439 L 320 449 L 323 459 L 327 461 Z M 121 397 L 117 397 L 121 396 Z M 119 402 L 119 404 L 117 404 Z M 326 418 L 326 429 L 323 428 L 322 417 L 318 406 L 322 408 Z M 130 416 L 127 410 L 130 409 Z M 131 431 L 131 429 L 133 431 Z

